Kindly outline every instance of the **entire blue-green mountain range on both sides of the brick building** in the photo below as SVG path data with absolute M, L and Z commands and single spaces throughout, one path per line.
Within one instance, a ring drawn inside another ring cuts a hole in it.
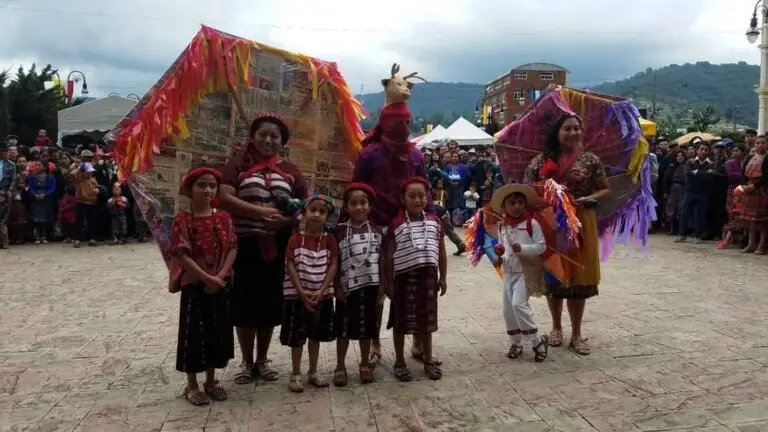
M 745 62 L 711 64 L 709 62 L 672 64 L 659 69 L 648 68 L 615 82 L 590 86 L 589 89 L 631 99 L 638 108 L 653 114 L 655 101 L 657 120 L 688 126 L 693 111 L 714 105 L 717 115 L 729 122 L 757 124 L 757 95 L 760 67 Z M 482 103 L 484 84 L 416 83 L 410 108 L 414 118 L 448 126 L 459 116 L 472 120 Z M 371 118 L 378 117 L 384 93 L 360 96 Z

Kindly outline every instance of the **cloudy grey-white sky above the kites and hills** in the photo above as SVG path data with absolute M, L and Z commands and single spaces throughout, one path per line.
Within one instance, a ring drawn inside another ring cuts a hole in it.
M 143 94 L 201 23 L 339 63 L 354 92 L 397 61 L 430 81 L 485 83 L 522 63 L 571 85 L 670 63 L 759 63 L 754 0 L 0 0 L 0 68 L 85 73 L 94 95 Z M 215 6 L 213 6 L 215 5 Z

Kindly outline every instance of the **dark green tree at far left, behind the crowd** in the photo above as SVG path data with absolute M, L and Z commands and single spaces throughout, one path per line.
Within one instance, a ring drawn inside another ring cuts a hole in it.
M 11 133 L 18 135 L 24 144 L 33 143 L 39 129 L 46 129 L 48 136 L 57 135 L 57 112 L 68 105 L 60 89 L 45 88 L 55 73 L 51 65 L 40 71 L 34 64 L 26 71 L 19 67 L 15 79 L 5 86 Z

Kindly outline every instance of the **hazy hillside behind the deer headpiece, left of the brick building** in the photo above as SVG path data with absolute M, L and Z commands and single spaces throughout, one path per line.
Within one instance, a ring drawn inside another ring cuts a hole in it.
M 482 84 L 416 82 L 409 103 L 411 113 L 414 118 L 421 117 L 426 122 L 441 123 L 444 126 L 450 125 L 460 116 L 471 121 L 477 102 L 483 97 L 484 88 Z M 362 102 L 371 117 L 376 118 L 384 104 L 384 92 L 364 94 Z M 365 123 L 373 123 L 373 119 Z

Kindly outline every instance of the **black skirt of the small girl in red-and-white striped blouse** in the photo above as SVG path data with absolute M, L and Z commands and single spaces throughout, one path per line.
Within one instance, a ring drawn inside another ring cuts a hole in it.
M 304 346 L 307 339 L 314 342 L 335 339 L 333 299 L 321 301 L 314 309 L 314 312 L 306 310 L 301 300 L 285 300 L 283 325 L 280 327 L 281 344 L 298 348 Z

